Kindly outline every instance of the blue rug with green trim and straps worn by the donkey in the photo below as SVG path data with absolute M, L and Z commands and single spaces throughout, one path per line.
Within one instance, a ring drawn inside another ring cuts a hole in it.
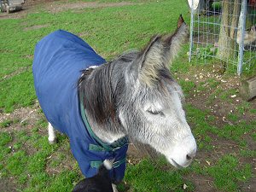
M 125 175 L 127 139 L 111 145 L 102 143 L 88 124 L 86 106 L 79 101 L 77 84 L 81 71 L 104 63 L 107 62 L 81 38 L 58 30 L 38 42 L 32 73 L 46 119 L 55 129 L 67 134 L 84 176 L 95 176 L 103 160 L 114 159 L 110 177 L 113 182 L 119 182 Z

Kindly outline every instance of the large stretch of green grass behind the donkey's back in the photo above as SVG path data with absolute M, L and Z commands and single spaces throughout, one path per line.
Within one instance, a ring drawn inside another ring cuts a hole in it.
M 112 59 L 127 49 L 142 48 L 155 33 L 173 32 L 180 13 L 183 13 L 185 20 L 189 20 L 184 2 L 162 1 L 145 3 L 143 6 L 135 4 L 84 9 L 79 13 L 67 10 L 50 14 L 43 9 L 23 19 L 0 20 L 1 25 L 5 26 L 0 31 L 0 79 L 9 75 L 9 78 L 0 81 L 0 108 L 11 112 L 15 108 L 34 103 L 36 95 L 32 84 L 32 55 L 38 40 L 49 32 L 61 28 L 75 34 L 84 34 L 82 38 L 100 55 Z M 176 9 L 178 13 L 170 15 Z M 45 27 L 24 30 L 39 25 Z M 18 74 L 13 76 L 13 73 Z

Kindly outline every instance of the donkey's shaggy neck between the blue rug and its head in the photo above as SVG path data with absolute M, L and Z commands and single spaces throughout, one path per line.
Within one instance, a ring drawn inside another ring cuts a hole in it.
M 91 130 L 103 143 L 109 144 L 126 135 L 116 108 L 122 92 L 120 79 L 124 79 L 125 66 L 122 65 L 120 70 L 120 66 L 115 64 L 111 62 L 87 69 L 79 79 L 79 94 L 83 97 Z

